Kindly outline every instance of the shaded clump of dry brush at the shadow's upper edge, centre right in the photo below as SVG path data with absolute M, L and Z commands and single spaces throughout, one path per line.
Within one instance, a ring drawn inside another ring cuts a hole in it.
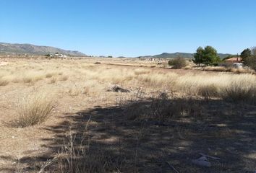
M 200 115 L 200 100 L 192 97 L 168 97 L 166 92 L 150 98 L 141 99 L 136 105 L 131 104 L 124 110 L 129 120 L 158 120 L 168 122 L 176 117 Z

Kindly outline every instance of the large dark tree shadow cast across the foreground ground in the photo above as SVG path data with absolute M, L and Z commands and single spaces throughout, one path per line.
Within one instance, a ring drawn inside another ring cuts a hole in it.
M 50 148 L 51 153 L 20 161 L 31 165 L 26 168 L 29 172 L 40 169 L 40 161 L 51 158 L 68 143 L 69 131 L 77 134 L 78 142 L 83 138 L 90 118 L 85 141 L 90 141 L 91 154 L 101 153 L 112 164 L 109 166 L 112 170 L 106 172 L 113 172 L 113 169 L 116 172 L 255 171 L 254 106 L 233 105 L 218 99 L 190 99 L 189 102 L 167 99 L 165 107 L 155 103 L 162 103 L 162 100 L 97 106 L 75 115 L 67 114 L 63 123 L 46 127 L 56 134 L 55 138 L 43 139 L 48 143 L 44 147 Z M 199 158 L 200 153 L 220 160 L 210 159 L 211 167 L 192 164 L 192 159 Z

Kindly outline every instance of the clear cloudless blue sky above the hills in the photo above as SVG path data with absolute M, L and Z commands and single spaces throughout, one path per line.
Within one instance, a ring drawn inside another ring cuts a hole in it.
M 256 45 L 255 0 L 0 0 L 0 42 L 95 56 L 194 53 Z

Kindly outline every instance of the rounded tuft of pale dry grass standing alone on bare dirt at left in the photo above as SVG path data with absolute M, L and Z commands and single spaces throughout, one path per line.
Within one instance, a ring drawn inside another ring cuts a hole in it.
M 53 102 L 45 94 L 35 94 L 25 97 L 20 101 L 18 117 L 15 125 L 18 128 L 25 128 L 43 123 L 53 110 Z

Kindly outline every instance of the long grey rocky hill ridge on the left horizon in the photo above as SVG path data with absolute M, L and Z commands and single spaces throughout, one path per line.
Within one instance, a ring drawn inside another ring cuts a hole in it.
M 0 43 L 0 54 L 27 54 L 44 56 L 48 53 L 61 53 L 63 55 L 70 56 L 86 56 L 84 53 L 80 53 L 79 51 L 63 50 L 50 46 Z

